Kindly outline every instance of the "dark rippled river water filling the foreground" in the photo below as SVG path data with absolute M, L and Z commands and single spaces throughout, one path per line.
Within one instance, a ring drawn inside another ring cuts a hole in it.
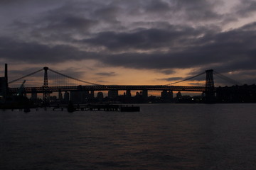
M 0 169 L 256 169 L 256 104 L 0 112 Z

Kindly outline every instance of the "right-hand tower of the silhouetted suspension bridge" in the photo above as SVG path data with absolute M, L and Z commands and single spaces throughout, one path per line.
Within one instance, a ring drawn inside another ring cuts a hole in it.
M 214 103 L 215 90 L 213 80 L 213 69 L 206 70 L 206 103 Z

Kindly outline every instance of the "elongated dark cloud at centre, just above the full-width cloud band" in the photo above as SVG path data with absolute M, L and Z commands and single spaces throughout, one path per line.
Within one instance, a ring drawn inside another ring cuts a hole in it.
M 168 29 L 143 29 L 132 33 L 102 32 L 95 38 L 85 39 L 82 42 L 107 47 L 109 50 L 124 49 L 155 49 L 159 47 L 187 45 L 188 41 L 202 33 L 201 29 L 186 26 L 169 26 Z

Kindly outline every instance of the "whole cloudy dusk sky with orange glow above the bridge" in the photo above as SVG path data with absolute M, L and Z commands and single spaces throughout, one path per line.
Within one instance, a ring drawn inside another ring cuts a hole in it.
M 0 69 L 140 85 L 215 69 L 253 84 L 255 30 L 256 0 L 1 0 Z

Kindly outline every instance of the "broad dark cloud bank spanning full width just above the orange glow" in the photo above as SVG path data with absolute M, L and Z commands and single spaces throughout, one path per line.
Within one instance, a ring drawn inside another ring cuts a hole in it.
M 109 50 L 152 50 L 154 52 L 121 52 L 103 55 L 70 45 L 41 45 L 0 39 L 0 55 L 9 60 L 23 62 L 64 62 L 66 60 L 94 59 L 112 66 L 136 69 L 173 69 L 193 67 L 223 67 L 227 69 L 252 69 L 256 55 L 255 23 L 223 33 L 206 29 L 180 28 L 178 30 L 148 29 L 134 33 L 102 32 L 95 38 L 83 40 L 92 46 Z M 178 28 L 178 27 L 177 27 Z M 250 28 L 250 29 L 249 29 Z M 197 38 L 198 35 L 203 35 Z M 193 42 L 193 43 L 191 43 Z M 168 47 L 162 52 L 158 48 Z M 21 57 L 22 56 L 22 57 Z M 103 57 L 104 56 L 104 57 Z

